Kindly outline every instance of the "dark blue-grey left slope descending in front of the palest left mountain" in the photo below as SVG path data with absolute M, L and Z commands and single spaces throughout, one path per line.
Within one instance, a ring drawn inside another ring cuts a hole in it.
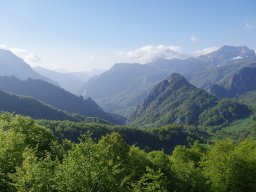
M 124 119 L 104 112 L 91 98 L 83 99 L 68 91 L 42 80 L 19 80 L 15 77 L 0 77 L 0 89 L 18 95 L 31 96 L 69 113 L 98 117 L 112 123 L 122 123 Z

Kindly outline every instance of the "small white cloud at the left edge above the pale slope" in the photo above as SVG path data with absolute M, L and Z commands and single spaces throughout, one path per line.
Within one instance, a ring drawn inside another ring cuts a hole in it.
M 0 44 L 1 49 L 6 49 L 13 52 L 18 57 L 22 58 L 25 62 L 31 64 L 40 61 L 40 58 L 35 55 L 34 53 L 27 51 L 25 49 L 15 48 L 15 47 L 8 47 L 6 45 Z

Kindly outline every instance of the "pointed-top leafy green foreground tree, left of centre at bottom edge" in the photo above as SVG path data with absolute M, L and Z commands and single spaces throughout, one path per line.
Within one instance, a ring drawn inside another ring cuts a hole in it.
M 119 165 L 105 159 L 95 141 L 87 134 L 74 145 L 57 168 L 59 191 L 119 191 L 116 175 Z

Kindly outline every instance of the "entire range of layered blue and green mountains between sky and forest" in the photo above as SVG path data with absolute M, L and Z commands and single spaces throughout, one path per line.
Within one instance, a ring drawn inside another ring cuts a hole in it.
M 77 114 L 123 124 L 125 118 L 114 112 L 125 115 L 133 126 L 217 125 L 251 114 L 247 106 L 219 98 L 235 97 L 248 104 L 248 97 L 256 95 L 256 55 L 245 46 L 223 46 L 184 60 L 118 63 L 88 81 L 82 73 L 33 69 L 10 51 L 0 50 L 0 56 L 0 90 L 5 98 L 9 93 L 15 98 L 29 96 L 67 119 Z M 83 96 L 77 96 L 79 92 Z

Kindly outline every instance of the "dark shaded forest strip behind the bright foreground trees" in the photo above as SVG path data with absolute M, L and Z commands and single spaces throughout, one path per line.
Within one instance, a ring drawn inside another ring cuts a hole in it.
M 135 129 L 127 126 L 116 126 L 100 123 L 84 123 L 70 121 L 37 121 L 39 124 L 52 130 L 53 135 L 59 140 L 69 139 L 78 142 L 78 138 L 92 132 L 93 138 L 99 140 L 107 133 L 117 132 L 130 145 L 137 145 L 146 151 L 164 150 L 170 153 L 176 145 L 186 145 L 198 140 L 206 142 L 208 134 L 193 126 L 166 125 L 162 127 Z

